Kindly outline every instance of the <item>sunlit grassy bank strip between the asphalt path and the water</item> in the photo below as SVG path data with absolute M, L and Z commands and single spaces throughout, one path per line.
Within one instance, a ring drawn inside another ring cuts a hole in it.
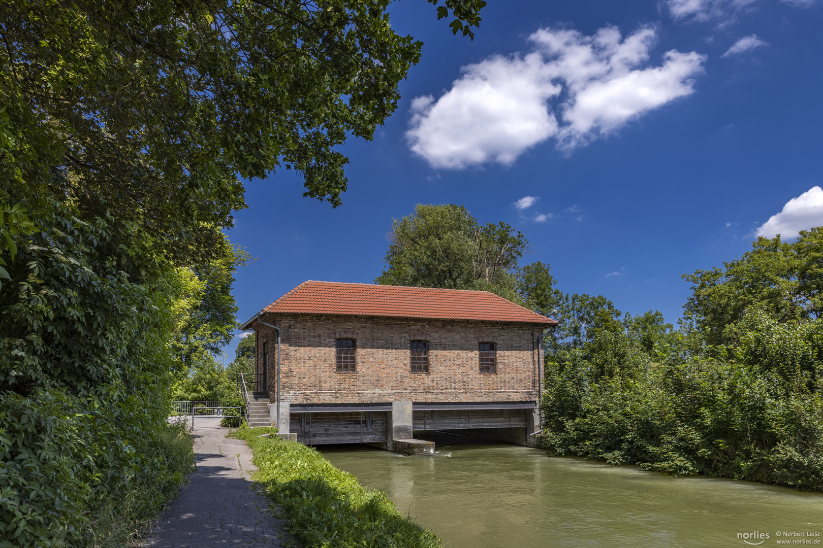
M 306 548 L 435 548 L 434 533 L 405 518 L 385 493 L 366 490 L 316 449 L 261 434 L 275 428 L 241 428 L 258 467 L 255 479 L 286 511 L 291 532 Z

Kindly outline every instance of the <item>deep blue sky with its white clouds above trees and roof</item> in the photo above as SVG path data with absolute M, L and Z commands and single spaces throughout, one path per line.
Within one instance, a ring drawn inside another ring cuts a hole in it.
M 490 0 L 474 41 L 424 0 L 391 16 L 422 59 L 343 148 L 343 205 L 286 170 L 247 185 L 241 321 L 307 279 L 371 283 L 418 203 L 510 223 L 564 292 L 672 322 L 681 274 L 823 224 L 821 0 Z

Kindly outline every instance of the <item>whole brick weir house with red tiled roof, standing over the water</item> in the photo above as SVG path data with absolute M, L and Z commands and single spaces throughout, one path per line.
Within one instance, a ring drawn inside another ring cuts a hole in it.
M 257 333 L 264 424 L 421 454 L 432 431 L 537 445 L 540 341 L 556 323 L 491 292 L 309 281 L 241 329 Z

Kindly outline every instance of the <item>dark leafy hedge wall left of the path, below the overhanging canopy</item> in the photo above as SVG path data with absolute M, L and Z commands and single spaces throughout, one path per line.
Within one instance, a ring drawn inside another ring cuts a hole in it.
M 166 423 L 174 278 L 133 283 L 142 248 L 52 207 L 0 289 L 0 546 L 100 546 L 193 464 Z

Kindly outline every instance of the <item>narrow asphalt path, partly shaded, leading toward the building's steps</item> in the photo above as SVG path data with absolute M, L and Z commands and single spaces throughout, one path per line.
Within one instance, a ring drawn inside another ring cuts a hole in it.
M 282 546 L 290 538 L 283 520 L 273 517 L 273 504 L 250 479 L 257 470 L 251 449 L 243 440 L 224 437 L 228 431 L 220 427 L 220 418 L 194 421 L 197 470 L 140 546 Z

